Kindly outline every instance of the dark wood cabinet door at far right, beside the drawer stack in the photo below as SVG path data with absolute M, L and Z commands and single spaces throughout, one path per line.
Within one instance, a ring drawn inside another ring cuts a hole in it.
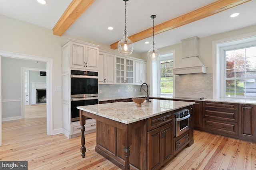
M 256 139 L 256 105 L 239 104 L 239 136 L 247 139 Z

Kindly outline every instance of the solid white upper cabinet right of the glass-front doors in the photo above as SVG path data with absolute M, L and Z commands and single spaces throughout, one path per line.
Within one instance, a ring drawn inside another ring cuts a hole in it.
M 147 63 L 145 61 L 134 60 L 134 84 L 147 82 Z

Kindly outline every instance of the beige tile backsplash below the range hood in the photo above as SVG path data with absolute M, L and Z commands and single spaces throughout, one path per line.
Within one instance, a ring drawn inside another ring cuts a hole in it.
M 212 98 L 212 74 L 175 76 L 175 97 Z

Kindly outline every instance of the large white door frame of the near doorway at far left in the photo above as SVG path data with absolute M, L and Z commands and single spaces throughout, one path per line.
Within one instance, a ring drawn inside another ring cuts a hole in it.
M 7 51 L 0 51 L 0 146 L 2 145 L 2 57 L 10 57 L 16 59 L 32 60 L 32 61 L 41 61 L 46 63 L 46 124 L 47 124 L 47 135 L 53 135 L 53 112 L 52 112 L 52 70 L 53 64 L 50 58 L 39 57 L 33 55 L 25 55 L 19 53 L 12 53 Z M 49 97 L 48 97 L 49 96 Z M 24 100 L 24 99 L 23 99 Z

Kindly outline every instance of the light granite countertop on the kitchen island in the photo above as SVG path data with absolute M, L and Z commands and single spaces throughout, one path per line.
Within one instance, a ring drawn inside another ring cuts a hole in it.
M 194 102 L 180 102 L 172 100 L 152 99 L 151 101 L 152 102 L 148 103 L 145 101 L 141 104 L 142 107 L 137 107 L 134 102 L 117 102 L 79 106 L 77 108 L 114 121 L 129 124 L 195 104 Z

